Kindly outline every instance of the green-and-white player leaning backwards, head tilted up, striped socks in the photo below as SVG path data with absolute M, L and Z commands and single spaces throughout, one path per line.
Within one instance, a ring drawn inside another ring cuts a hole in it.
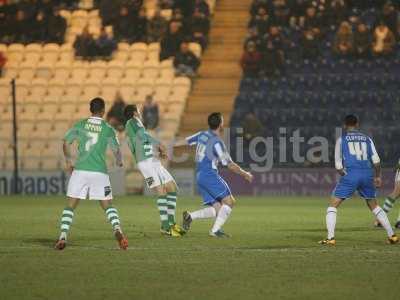
M 175 222 L 177 200 L 175 180 L 154 153 L 156 149 L 165 157 L 165 148 L 146 131 L 136 105 L 126 106 L 125 117 L 128 120 L 125 125 L 126 136 L 133 157 L 147 186 L 158 194 L 161 233 L 174 237 L 182 236 L 185 232 Z

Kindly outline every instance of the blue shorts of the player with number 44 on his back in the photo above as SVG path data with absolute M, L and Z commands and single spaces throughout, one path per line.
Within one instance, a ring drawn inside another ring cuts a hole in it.
M 375 199 L 374 176 L 370 170 L 349 171 L 337 183 L 332 195 L 336 198 L 350 198 L 357 191 L 364 199 Z

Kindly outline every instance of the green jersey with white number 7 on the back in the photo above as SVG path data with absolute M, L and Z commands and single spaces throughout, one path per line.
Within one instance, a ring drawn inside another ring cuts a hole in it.
M 78 157 L 75 169 L 107 174 L 106 150 L 110 146 L 118 150 L 115 130 L 102 118 L 90 117 L 75 123 L 64 136 L 67 143 L 78 141 Z

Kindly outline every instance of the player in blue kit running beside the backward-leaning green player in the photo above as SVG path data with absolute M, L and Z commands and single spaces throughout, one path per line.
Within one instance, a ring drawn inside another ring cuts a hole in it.
M 253 180 L 253 175 L 234 163 L 227 152 L 220 135 L 223 129 L 221 113 L 212 113 L 208 117 L 208 131 L 201 131 L 186 139 L 189 145 L 196 145 L 196 181 L 205 208 L 183 213 L 183 228 L 188 231 L 193 220 L 215 218 L 210 231 L 212 237 L 228 237 L 222 230 L 235 199 L 225 180 L 218 174 L 218 165 L 228 167 L 234 173 L 244 177 L 247 181 Z

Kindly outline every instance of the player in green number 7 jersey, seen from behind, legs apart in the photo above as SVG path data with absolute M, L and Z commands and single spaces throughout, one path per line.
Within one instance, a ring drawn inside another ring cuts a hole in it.
M 122 167 L 122 156 L 114 129 L 103 120 L 104 100 L 95 98 L 90 102 L 92 116 L 75 123 L 64 136 L 63 151 L 66 169 L 71 173 L 67 190 L 67 206 L 61 217 L 61 233 L 55 248 L 62 250 L 67 244 L 74 210 L 79 201 L 89 198 L 98 200 L 111 223 L 115 238 L 121 249 L 128 248 L 128 240 L 123 235 L 117 210 L 112 206 L 110 178 L 106 166 L 106 150 L 110 146 L 117 165 Z M 72 164 L 70 144 L 78 141 L 78 157 Z

